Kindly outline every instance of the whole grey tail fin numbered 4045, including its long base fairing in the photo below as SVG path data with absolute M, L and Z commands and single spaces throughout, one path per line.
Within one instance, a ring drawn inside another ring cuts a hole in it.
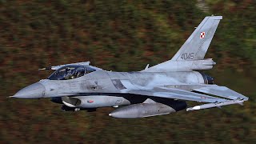
M 203 59 L 210 46 L 211 40 L 214 38 L 214 33 L 221 19 L 222 16 L 204 18 L 171 60 L 142 71 L 156 72 L 211 69 L 215 62 L 211 59 Z

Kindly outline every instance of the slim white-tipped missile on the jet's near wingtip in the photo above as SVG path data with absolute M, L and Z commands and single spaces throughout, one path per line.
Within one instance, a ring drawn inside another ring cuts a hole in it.
M 204 105 L 187 108 L 186 111 L 209 109 L 212 107 L 220 107 L 220 106 L 226 106 L 226 105 L 232 105 L 232 104 L 242 104 L 242 102 L 245 102 L 245 100 L 238 99 L 238 100 L 230 100 L 230 101 L 219 102 L 219 103 L 207 103 Z

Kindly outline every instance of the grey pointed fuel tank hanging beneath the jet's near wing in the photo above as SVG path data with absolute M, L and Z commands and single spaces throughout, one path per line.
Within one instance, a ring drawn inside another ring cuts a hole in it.
M 182 103 L 183 105 L 183 103 Z M 186 103 L 185 103 L 186 105 Z M 186 108 L 186 106 L 178 106 L 178 110 Z M 173 107 L 166 106 L 165 104 L 154 102 L 154 103 L 139 103 L 130 106 L 124 106 L 117 110 L 114 110 L 109 115 L 114 118 L 144 118 L 155 115 L 170 114 L 178 110 Z

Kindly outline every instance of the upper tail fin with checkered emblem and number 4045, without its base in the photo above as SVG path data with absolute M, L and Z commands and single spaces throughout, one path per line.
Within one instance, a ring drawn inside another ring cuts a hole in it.
M 204 18 L 171 60 L 184 61 L 203 59 L 221 19 L 222 16 Z

